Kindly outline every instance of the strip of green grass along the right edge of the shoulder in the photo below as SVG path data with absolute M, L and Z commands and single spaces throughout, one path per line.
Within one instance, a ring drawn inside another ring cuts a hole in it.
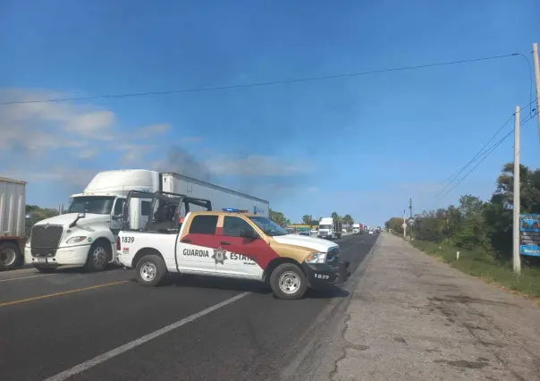
M 509 261 L 499 261 L 484 250 L 461 250 L 442 243 L 412 241 L 413 246 L 426 254 L 438 258 L 451 267 L 468 275 L 477 276 L 491 284 L 540 299 L 540 268 L 521 265 L 521 274 L 516 275 Z M 456 258 L 460 251 L 460 259 Z

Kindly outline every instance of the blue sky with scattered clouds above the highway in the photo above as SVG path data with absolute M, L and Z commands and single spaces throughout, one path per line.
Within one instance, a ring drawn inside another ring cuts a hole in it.
M 339 4 L 339 5 L 338 5 Z M 540 42 L 524 1 L 0 0 L 0 98 L 86 97 L 247 84 L 522 53 Z M 55 206 L 93 174 L 150 168 L 270 200 L 291 220 L 364 224 L 488 198 L 512 141 L 443 200 L 530 96 L 523 57 L 251 89 L 0 106 L 0 175 Z M 510 131 L 510 124 L 503 132 Z M 540 166 L 536 120 L 522 162 Z

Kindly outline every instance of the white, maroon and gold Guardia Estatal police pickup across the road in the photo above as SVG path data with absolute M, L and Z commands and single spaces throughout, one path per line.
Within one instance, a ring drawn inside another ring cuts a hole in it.
M 340 248 L 318 238 L 287 233 L 266 216 L 248 210 L 213 211 L 206 199 L 156 192 L 154 217 L 144 228 L 124 228 L 117 259 L 136 269 L 139 284 L 156 286 L 167 274 L 212 275 L 270 284 L 281 299 L 299 299 L 308 287 L 341 284 L 350 276 Z

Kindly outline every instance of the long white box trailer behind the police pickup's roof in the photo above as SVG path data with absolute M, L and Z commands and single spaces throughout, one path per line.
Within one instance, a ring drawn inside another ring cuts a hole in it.
M 225 208 L 235 208 L 246 210 L 254 215 L 269 216 L 270 206 L 266 199 L 258 199 L 236 190 L 201 182 L 183 174 L 163 173 L 161 176 L 160 183 L 163 191 L 184 194 L 197 199 L 209 199 L 212 202 L 212 210 L 223 211 Z M 202 207 L 200 209 L 203 210 Z

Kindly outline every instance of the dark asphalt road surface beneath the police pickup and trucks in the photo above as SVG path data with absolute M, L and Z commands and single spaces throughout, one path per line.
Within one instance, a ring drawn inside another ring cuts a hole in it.
M 337 241 L 352 276 L 375 239 Z M 349 295 L 332 287 L 282 301 L 254 282 L 182 276 L 146 288 L 133 278 L 122 269 L 1 273 L 2 380 L 267 379 Z

